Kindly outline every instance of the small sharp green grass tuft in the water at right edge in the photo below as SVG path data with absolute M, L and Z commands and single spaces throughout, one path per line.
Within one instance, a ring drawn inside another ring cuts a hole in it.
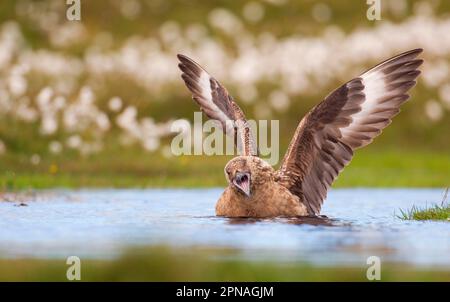
M 400 209 L 398 218 L 403 220 L 443 220 L 450 221 L 450 204 L 446 203 L 448 188 L 445 190 L 441 204 L 435 204 L 426 208 L 413 206 L 411 209 Z

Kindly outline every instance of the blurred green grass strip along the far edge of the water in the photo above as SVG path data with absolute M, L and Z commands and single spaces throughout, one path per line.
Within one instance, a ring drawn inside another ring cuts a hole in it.
M 223 187 L 229 156 L 165 158 L 135 149 L 90 157 L 48 157 L 37 166 L 12 155 L 0 162 L 0 188 Z M 450 155 L 429 151 L 358 151 L 334 187 L 447 187 Z

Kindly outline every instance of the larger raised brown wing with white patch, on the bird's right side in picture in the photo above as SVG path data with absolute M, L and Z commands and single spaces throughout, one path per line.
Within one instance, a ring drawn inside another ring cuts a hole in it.
M 393 57 L 342 85 L 300 122 L 283 159 L 278 181 L 300 197 L 311 215 L 357 148 L 391 123 L 420 74 L 422 49 Z

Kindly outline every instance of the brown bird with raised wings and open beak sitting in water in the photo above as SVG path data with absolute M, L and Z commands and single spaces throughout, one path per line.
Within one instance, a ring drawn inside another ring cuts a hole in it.
M 216 205 L 226 217 L 318 215 L 327 190 L 350 162 L 400 112 L 420 74 L 422 49 L 388 59 L 334 90 L 300 121 L 279 170 L 258 157 L 245 115 L 199 64 L 178 55 L 193 99 L 238 138 L 241 156 L 225 166 L 228 187 Z M 230 123 L 232 121 L 233 123 Z

